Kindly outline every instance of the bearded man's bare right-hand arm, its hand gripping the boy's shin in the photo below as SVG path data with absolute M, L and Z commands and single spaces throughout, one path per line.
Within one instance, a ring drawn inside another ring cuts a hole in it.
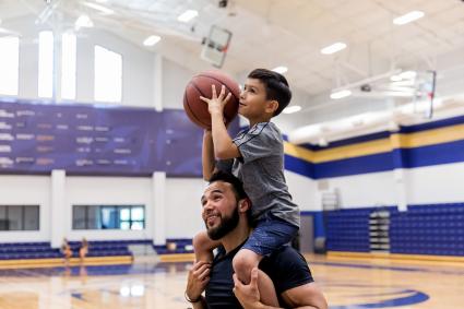
M 260 301 L 258 288 L 258 269 L 251 272 L 249 285 L 242 284 L 234 274 L 234 293 L 245 309 L 276 309 L 278 307 L 266 306 Z M 328 302 L 314 283 L 304 284 L 285 290 L 281 294 L 282 299 L 289 308 L 298 309 L 328 309 Z

